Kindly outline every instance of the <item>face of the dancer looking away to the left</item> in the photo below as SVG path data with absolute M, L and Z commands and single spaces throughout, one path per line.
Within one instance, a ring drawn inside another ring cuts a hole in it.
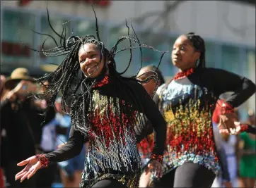
M 194 50 L 194 47 L 186 36 L 181 35 L 178 37 L 173 45 L 172 51 L 172 61 L 175 67 L 180 68 L 180 70 L 194 68 L 199 57 L 199 51 Z

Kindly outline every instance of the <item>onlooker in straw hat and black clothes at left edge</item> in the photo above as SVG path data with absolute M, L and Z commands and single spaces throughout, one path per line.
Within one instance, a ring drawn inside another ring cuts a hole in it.
M 6 78 L 4 87 L 7 94 L 1 101 L 1 167 L 6 175 L 6 187 L 35 187 L 36 180 L 28 180 L 24 184 L 15 181 L 14 176 L 20 168 L 18 161 L 35 155 L 40 143 L 42 108 L 35 105 L 35 99 L 27 97 L 37 93 L 39 87 L 30 77 L 26 68 L 16 68 Z M 40 86 L 41 87 L 41 86 Z M 45 123 L 54 118 L 48 113 Z

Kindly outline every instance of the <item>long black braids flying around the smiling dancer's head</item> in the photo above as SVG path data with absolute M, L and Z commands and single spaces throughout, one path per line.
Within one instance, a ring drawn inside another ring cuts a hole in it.
M 94 8 L 93 8 L 93 12 Z M 142 68 L 142 51 L 141 48 L 149 48 L 153 51 L 161 52 L 161 58 L 158 63 L 156 70 L 161 63 L 163 55 L 167 51 L 158 51 L 151 46 L 147 46 L 146 44 L 141 44 L 139 42 L 139 38 L 137 37 L 134 27 L 131 27 L 134 32 L 134 35 L 129 34 L 129 26 L 126 26 L 128 29 L 128 35 L 120 37 L 117 39 L 117 42 L 110 50 L 105 48 L 105 45 L 100 40 L 100 34 L 98 30 L 98 19 L 95 14 L 95 28 L 96 28 L 96 37 L 94 35 L 86 35 L 84 37 L 78 37 L 76 35 L 72 35 L 71 37 L 66 38 L 66 28 L 63 25 L 62 34 L 60 35 L 58 32 L 54 30 L 50 22 L 50 14 L 47 8 L 47 19 L 48 23 L 52 29 L 52 31 L 59 37 L 59 44 L 57 40 L 54 39 L 51 35 L 43 34 L 40 32 L 36 32 L 40 35 L 46 35 L 54 40 L 56 47 L 53 49 L 44 49 L 45 41 L 42 44 L 42 50 L 31 49 L 33 51 L 42 52 L 45 56 L 54 57 L 54 56 L 65 56 L 62 63 L 59 64 L 58 68 L 54 70 L 53 73 L 48 73 L 42 77 L 40 77 L 37 81 L 44 84 L 45 81 L 50 80 L 49 84 L 46 85 L 47 89 L 45 92 L 37 94 L 36 97 L 39 99 L 45 99 L 47 101 L 47 106 L 54 106 L 54 101 L 57 98 L 58 94 L 62 93 L 62 111 L 71 115 L 71 123 L 75 126 L 76 130 L 80 130 L 81 132 L 87 134 L 91 127 L 91 122 L 87 118 L 86 114 L 88 114 L 89 109 L 95 107 L 93 106 L 92 100 L 92 90 L 93 85 L 95 85 L 99 80 L 92 79 L 90 77 L 86 77 L 85 75 L 81 74 L 80 65 L 78 62 L 78 51 L 83 47 L 83 44 L 95 44 L 100 51 L 100 61 L 103 58 L 104 60 L 104 68 L 101 72 L 100 77 L 105 75 L 105 71 L 109 70 L 109 77 L 110 82 L 113 82 L 115 85 L 115 89 L 126 89 L 125 92 L 130 96 L 133 103 L 136 104 L 140 108 L 141 111 L 142 105 L 140 102 L 139 97 L 136 94 L 136 90 L 131 87 L 125 80 L 134 80 L 139 83 L 149 82 L 151 79 L 158 80 L 158 74 L 153 73 L 146 80 L 137 80 L 136 77 L 138 76 L 139 71 Z M 124 49 L 117 50 L 118 44 L 123 42 L 124 40 L 129 40 L 129 46 L 125 47 Z M 141 52 L 141 66 L 138 72 L 133 75 L 132 77 L 123 77 L 122 75 L 127 71 L 129 65 L 132 62 L 132 49 L 140 49 Z M 116 62 L 115 62 L 115 55 L 121 51 L 129 50 L 130 51 L 130 58 L 127 65 L 127 68 L 118 73 L 116 70 Z M 114 91 L 115 95 L 115 91 Z M 115 98 L 116 96 L 114 96 Z M 71 101 L 70 103 L 68 101 Z M 122 109 L 125 111 L 127 115 L 129 111 L 127 109 Z M 141 121 L 141 120 L 139 120 Z M 141 125 L 142 126 L 142 125 Z

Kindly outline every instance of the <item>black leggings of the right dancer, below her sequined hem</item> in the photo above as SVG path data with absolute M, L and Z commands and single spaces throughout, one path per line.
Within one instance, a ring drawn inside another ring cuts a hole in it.
M 153 188 L 202 187 L 210 188 L 216 175 L 204 166 L 184 163 L 153 182 Z

